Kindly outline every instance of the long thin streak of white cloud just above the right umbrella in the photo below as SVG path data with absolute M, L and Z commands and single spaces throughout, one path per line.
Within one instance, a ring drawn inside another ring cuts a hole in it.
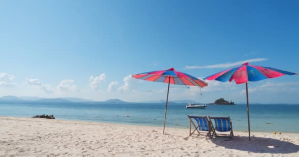
M 254 59 L 247 59 L 242 61 L 237 61 L 233 63 L 221 63 L 221 64 L 213 64 L 213 65 L 205 65 L 205 66 L 185 66 L 185 69 L 212 69 L 212 68 L 229 68 L 233 66 L 238 66 L 244 64 L 246 62 L 260 62 L 267 60 L 267 58 L 254 58 Z

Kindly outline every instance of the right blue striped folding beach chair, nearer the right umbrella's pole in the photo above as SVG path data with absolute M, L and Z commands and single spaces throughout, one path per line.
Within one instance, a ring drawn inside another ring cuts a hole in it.
M 214 120 L 215 127 L 211 120 Z M 210 117 L 209 116 L 209 122 L 211 125 L 211 135 L 210 137 L 213 138 L 213 136 L 217 137 L 228 137 L 229 140 L 233 139 L 234 132 L 233 132 L 233 126 L 230 117 Z M 221 133 L 218 133 L 218 132 Z M 230 132 L 229 134 L 225 134 L 222 132 Z

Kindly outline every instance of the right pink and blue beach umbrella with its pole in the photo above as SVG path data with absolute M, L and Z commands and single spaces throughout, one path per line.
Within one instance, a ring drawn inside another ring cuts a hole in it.
M 249 63 L 244 63 L 236 68 L 228 69 L 217 74 L 211 75 L 207 78 L 208 80 L 218 80 L 221 82 L 235 80 L 236 84 L 246 83 L 246 98 L 247 98 L 247 117 L 248 117 L 248 132 L 250 141 L 250 122 L 249 122 L 249 103 L 248 103 L 248 81 L 258 81 L 266 78 L 277 78 L 283 75 L 297 75 L 296 73 L 291 73 L 279 69 L 249 65 Z

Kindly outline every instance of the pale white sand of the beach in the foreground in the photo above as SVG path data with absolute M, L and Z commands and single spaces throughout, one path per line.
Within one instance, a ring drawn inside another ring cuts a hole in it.
M 299 134 L 234 132 L 231 141 L 188 129 L 0 117 L 0 157 L 299 157 Z

